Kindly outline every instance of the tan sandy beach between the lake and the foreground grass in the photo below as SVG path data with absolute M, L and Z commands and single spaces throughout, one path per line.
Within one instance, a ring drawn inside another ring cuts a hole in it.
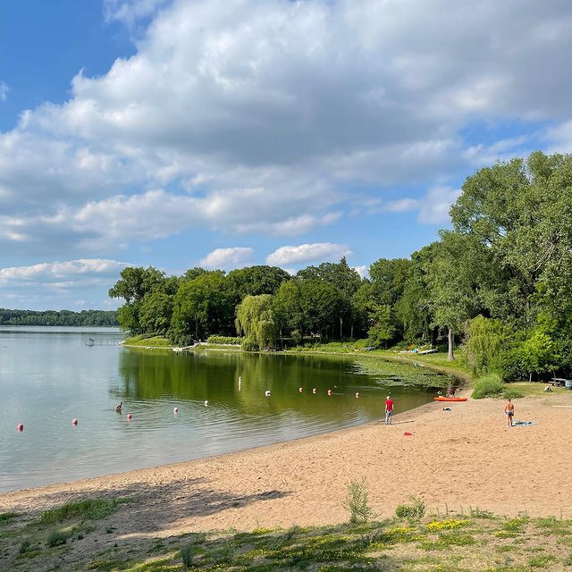
M 164 467 L 0 495 L 0 512 L 34 514 L 66 501 L 131 497 L 111 517 L 114 538 L 166 537 L 234 527 L 347 520 L 349 480 L 366 477 L 370 504 L 391 516 L 411 494 L 443 513 L 469 506 L 497 514 L 572 517 L 572 393 L 504 403 L 432 403 L 373 423 L 294 442 Z M 558 407 L 555 407 L 558 406 Z M 399 409 L 399 403 L 396 403 Z M 413 433 L 411 436 L 405 432 Z

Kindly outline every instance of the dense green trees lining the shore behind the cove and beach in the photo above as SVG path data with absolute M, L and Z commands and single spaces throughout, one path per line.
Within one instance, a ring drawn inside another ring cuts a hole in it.
M 362 279 L 345 258 L 296 276 L 273 266 L 165 276 L 130 267 L 109 291 L 132 334 L 181 346 L 240 336 L 244 349 L 362 339 L 364 347 L 455 344 L 474 374 L 572 374 L 572 156 L 534 152 L 475 172 L 452 228 Z

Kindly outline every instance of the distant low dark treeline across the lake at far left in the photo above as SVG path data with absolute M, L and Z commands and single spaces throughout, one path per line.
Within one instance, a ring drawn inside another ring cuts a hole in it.
M 0 308 L 0 325 L 118 326 L 115 310 L 11 310 Z

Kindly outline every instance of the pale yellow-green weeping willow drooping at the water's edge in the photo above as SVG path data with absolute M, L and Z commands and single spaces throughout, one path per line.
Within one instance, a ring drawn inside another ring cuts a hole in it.
M 276 346 L 277 327 L 272 310 L 272 296 L 246 296 L 236 308 L 236 329 L 245 335 L 244 349 Z

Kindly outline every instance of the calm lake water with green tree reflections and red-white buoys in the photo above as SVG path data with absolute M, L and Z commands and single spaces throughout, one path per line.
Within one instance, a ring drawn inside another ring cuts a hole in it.
M 357 425 L 383 415 L 390 391 L 398 412 L 430 401 L 434 389 L 408 385 L 419 375 L 442 382 L 402 365 L 365 374 L 350 358 L 173 354 L 122 348 L 119 340 L 111 328 L 0 326 L 0 491 Z

